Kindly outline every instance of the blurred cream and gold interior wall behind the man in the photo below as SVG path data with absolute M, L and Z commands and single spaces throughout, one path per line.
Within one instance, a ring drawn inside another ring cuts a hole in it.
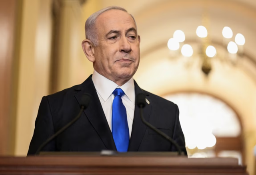
M 26 155 L 42 96 L 92 74 L 84 23 L 112 5 L 136 19 L 134 79 L 178 104 L 189 157 L 237 157 L 255 175 L 255 0 L 0 0 L 0 155 Z

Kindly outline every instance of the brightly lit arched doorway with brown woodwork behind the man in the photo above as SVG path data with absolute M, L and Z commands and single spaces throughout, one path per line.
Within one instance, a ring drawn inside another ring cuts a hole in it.
M 180 109 L 189 157 L 236 157 L 244 160 L 240 117 L 226 102 L 208 94 L 165 95 Z

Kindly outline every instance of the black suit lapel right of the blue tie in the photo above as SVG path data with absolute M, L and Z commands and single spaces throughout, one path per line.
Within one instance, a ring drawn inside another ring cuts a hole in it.
M 134 81 L 135 86 L 135 95 L 137 96 L 140 93 L 146 94 Z M 143 117 L 148 122 L 151 108 L 152 108 L 152 102 L 148 98 L 148 94 L 146 94 L 146 98 L 149 101 L 149 104 L 146 103 L 145 108 L 143 109 Z M 145 99 L 146 100 L 146 99 Z M 136 100 L 135 100 L 136 101 Z M 132 134 L 130 138 L 129 148 L 128 151 L 138 151 L 140 147 L 140 143 L 142 142 L 142 139 L 146 132 L 146 125 L 142 123 L 140 118 L 140 108 L 135 104 L 135 110 L 134 110 L 134 119 L 132 124 Z

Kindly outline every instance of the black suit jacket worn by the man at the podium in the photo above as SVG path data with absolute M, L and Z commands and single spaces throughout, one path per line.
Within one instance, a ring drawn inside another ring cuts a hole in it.
M 135 94 L 146 94 L 150 102 L 143 109 L 145 120 L 173 138 L 186 153 L 178 106 L 142 90 L 135 81 L 134 84 Z M 42 98 L 28 155 L 34 154 L 45 140 L 78 114 L 80 98 L 84 93 L 92 95 L 88 108 L 72 126 L 52 140 L 42 151 L 116 150 L 112 132 L 90 76 L 81 85 Z M 139 108 L 135 106 L 128 151 L 177 151 L 177 149 L 142 123 Z

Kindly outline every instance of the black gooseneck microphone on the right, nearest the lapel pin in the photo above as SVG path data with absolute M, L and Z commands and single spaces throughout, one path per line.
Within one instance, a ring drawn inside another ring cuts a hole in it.
M 174 144 L 174 146 L 177 148 L 178 150 L 178 154 L 181 155 L 181 149 L 180 146 L 178 146 L 178 144 L 169 136 L 167 136 L 164 132 L 158 130 L 156 127 L 154 127 L 152 124 L 148 123 L 144 118 L 143 118 L 143 108 L 146 106 L 146 95 L 145 94 L 138 94 L 136 96 L 136 104 L 138 105 L 138 107 L 140 108 L 140 118 L 142 120 L 142 122 L 144 124 L 146 124 L 146 126 L 148 126 L 149 128 L 151 128 L 152 130 L 154 130 L 154 132 L 158 133 L 160 136 L 162 136 L 163 138 L 165 138 L 166 140 L 168 140 L 169 142 L 171 142 L 171 144 Z

